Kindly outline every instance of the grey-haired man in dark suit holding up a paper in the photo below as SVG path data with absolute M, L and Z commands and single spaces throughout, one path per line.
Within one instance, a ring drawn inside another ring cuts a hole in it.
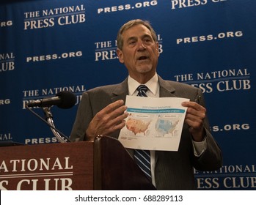
M 120 28 L 117 56 L 128 69 L 128 78 L 84 92 L 71 140 L 84 141 L 97 135 L 118 138 L 128 116 L 125 97 L 136 96 L 141 84 L 147 86 L 148 97 L 189 98 L 190 102 L 182 103 L 187 112 L 178 152 L 150 151 L 150 163 L 156 189 L 194 190 L 193 168 L 213 171 L 222 166 L 222 152 L 210 132 L 202 91 L 184 83 L 164 81 L 157 75 L 156 32 L 146 21 L 131 20 Z M 129 152 L 134 155 L 133 149 Z

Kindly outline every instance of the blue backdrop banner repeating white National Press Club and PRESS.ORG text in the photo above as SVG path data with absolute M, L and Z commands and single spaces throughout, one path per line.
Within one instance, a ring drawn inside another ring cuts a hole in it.
M 56 128 L 69 136 L 81 93 L 128 75 L 117 59 L 117 31 L 141 18 L 158 34 L 158 74 L 205 94 L 224 165 L 194 171 L 197 188 L 255 190 L 255 8 L 255 0 L 1 3 L 0 141 L 58 143 L 25 105 L 61 91 L 76 94 L 73 108 L 51 108 Z

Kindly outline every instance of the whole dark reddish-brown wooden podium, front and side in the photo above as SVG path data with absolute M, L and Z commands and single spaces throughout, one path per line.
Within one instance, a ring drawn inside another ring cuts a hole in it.
M 0 190 L 155 190 L 120 141 L 0 147 Z

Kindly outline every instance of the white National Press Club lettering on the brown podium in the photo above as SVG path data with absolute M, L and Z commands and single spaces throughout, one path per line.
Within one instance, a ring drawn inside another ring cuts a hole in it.
M 70 157 L 0 160 L 0 190 L 73 190 Z

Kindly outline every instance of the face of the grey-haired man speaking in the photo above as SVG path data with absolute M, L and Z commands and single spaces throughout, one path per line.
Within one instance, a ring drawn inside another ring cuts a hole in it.
M 137 79 L 147 75 L 153 77 L 158 63 L 158 42 L 154 42 L 150 30 L 141 24 L 122 33 L 122 51 L 117 49 L 119 61 L 125 64 L 129 75 Z

